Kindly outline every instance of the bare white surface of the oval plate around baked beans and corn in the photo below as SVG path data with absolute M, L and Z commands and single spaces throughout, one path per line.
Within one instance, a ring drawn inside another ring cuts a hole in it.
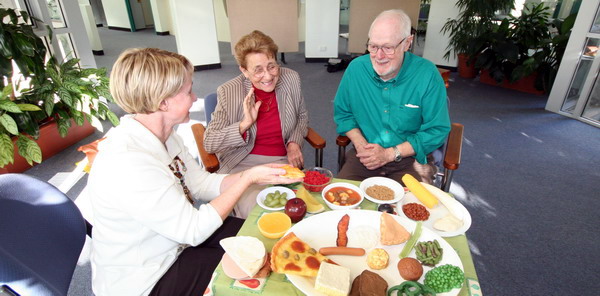
M 440 194 L 448 194 L 433 185 L 429 185 L 423 182 L 421 182 L 421 184 L 436 196 Z M 448 215 L 449 213 L 448 209 L 444 206 L 444 204 L 441 201 L 433 209 L 426 207 L 429 211 L 429 219 L 423 221 L 423 225 L 427 226 L 429 229 L 433 230 L 434 232 L 443 237 L 457 236 L 467 232 L 467 230 L 469 230 L 469 227 L 471 227 L 471 214 L 469 213 L 469 210 L 467 210 L 467 208 L 465 208 L 465 206 L 463 206 L 458 200 L 455 201 L 458 204 L 459 208 L 463 211 L 463 226 L 461 228 L 457 229 L 456 231 L 441 231 L 433 228 L 433 224 L 435 223 L 435 221 L 437 221 L 440 218 L 446 217 L 446 215 Z M 402 211 L 402 205 L 413 202 L 421 205 L 423 204 L 412 192 L 409 191 L 405 194 L 404 200 L 400 201 L 397 204 L 396 212 L 398 213 L 398 215 L 409 219 L 408 217 L 406 217 L 406 215 L 404 215 L 404 211 Z

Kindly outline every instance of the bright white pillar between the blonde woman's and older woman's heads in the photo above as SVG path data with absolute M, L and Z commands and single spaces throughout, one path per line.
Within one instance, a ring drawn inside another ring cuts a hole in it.
M 213 0 L 170 0 L 177 51 L 194 66 L 221 63 Z

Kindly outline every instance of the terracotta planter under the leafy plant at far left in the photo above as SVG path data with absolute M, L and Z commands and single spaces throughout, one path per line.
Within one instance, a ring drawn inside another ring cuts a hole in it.
M 65 148 L 79 142 L 83 138 L 94 133 L 95 128 L 88 122 L 82 126 L 71 122 L 71 127 L 66 137 L 61 137 L 58 133 L 58 125 L 55 121 L 50 121 L 40 127 L 40 137 L 36 140 L 40 149 L 42 150 L 42 159 L 48 159 L 55 154 L 58 154 Z M 13 144 L 17 141 L 16 137 L 13 137 Z M 25 158 L 23 158 L 17 152 L 17 146 L 15 145 L 15 161 L 12 164 L 6 165 L 0 168 L 0 174 L 6 173 L 22 173 L 32 166 L 30 166 Z M 36 165 L 36 163 L 34 163 Z

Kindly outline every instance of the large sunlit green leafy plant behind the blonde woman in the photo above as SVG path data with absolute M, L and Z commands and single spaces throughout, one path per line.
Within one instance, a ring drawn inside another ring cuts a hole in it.
M 29 166 L 47 157 L 36 140 L 48 125 L 64 138 L 85 124 L 119 123 L 108 108 L 112 97 L 106 69 L 83 69 L 73 58 L 59 63 L 34 33 L 34 22 L 41 22 L 25 11 L 0 8 L 0 19 L 0 168 L 21 157 Z M 50 140 L 60 141 L 56 136 Z

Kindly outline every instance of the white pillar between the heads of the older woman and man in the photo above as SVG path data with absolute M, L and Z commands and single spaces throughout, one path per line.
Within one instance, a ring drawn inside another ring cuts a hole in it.
M 339 0 L 306 0 L 306 58 L 338 56 L 339 17 Z

